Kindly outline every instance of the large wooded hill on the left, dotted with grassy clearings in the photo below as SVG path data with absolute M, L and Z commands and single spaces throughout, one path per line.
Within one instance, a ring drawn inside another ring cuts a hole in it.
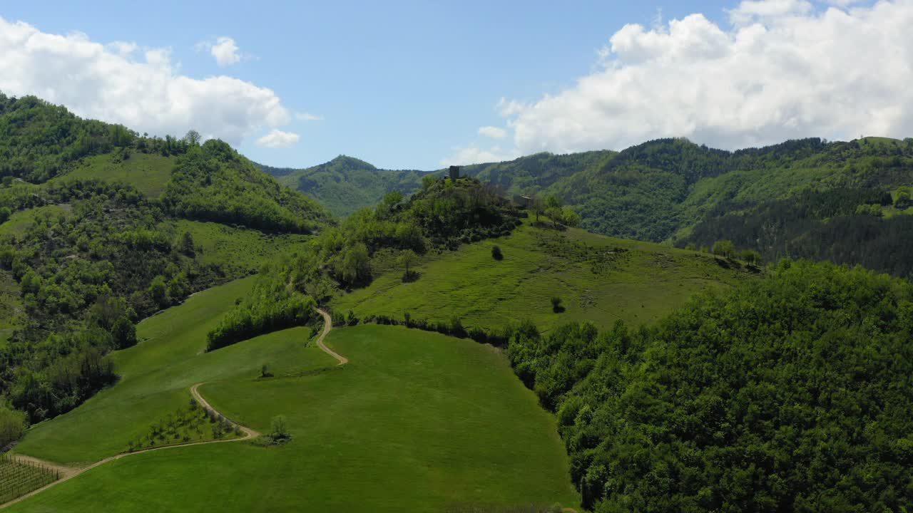
M 72 409 L 140 319 L 333 224 L 223 141 L 0 94 L 0 421 Z

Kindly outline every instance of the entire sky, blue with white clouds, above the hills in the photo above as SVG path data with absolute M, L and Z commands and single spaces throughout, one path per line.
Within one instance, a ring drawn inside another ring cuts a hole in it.
M 913 136 L 913 0 L 16 2 L 0 91 L 308 167 Z

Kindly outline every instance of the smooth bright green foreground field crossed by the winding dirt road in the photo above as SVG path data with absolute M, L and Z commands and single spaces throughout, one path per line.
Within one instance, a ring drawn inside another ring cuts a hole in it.
M 140 325 L 143 341 L 115 353 L 123 379 L 26 434 L 17 452 L 58 462 L 116 454 L 131 437 L 200 392 L 261 432 L 278 414 L 288 445 L 248 442 L 131 455 L 10 511 L 434 511 L 455 503 L 576 506 L 550 414 L 502 354 L 470 340 L 399 327 L 307 329 L 201 353 L 205 332 L 250 287 L 214 288 Z M 261 364 L 277 377 L 258 379 Z

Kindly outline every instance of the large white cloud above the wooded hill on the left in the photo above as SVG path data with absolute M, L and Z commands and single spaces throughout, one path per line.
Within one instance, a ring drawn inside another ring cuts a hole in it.
M 178 72 L 167 48 L 137 49 L 0 18 L 0 91 L 34 94 L 141 132 L 180 136 L 195 129 L 235 145 L 290 120 L 270 89 L 226 76 L 192 79 Z

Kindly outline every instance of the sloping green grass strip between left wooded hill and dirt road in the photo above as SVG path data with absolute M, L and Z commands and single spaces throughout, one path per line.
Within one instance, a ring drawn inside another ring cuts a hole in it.
M 206 332 L 252 284 L 248 277 L 210 288 L 142 321 L 137 327 L 142 341 L 111 355 L 121 382 L 68 414 L 32 427 L 16 452 L 68 464 L 116 455 L 147 434 L 152 424 L 186 405 L 194 383 L 259 369 L 251 352 L 272 341 L 269 337 L 231 348 L 235 351 L 203 352 Z M 307 330 L 302 330 L 306 337 Z

